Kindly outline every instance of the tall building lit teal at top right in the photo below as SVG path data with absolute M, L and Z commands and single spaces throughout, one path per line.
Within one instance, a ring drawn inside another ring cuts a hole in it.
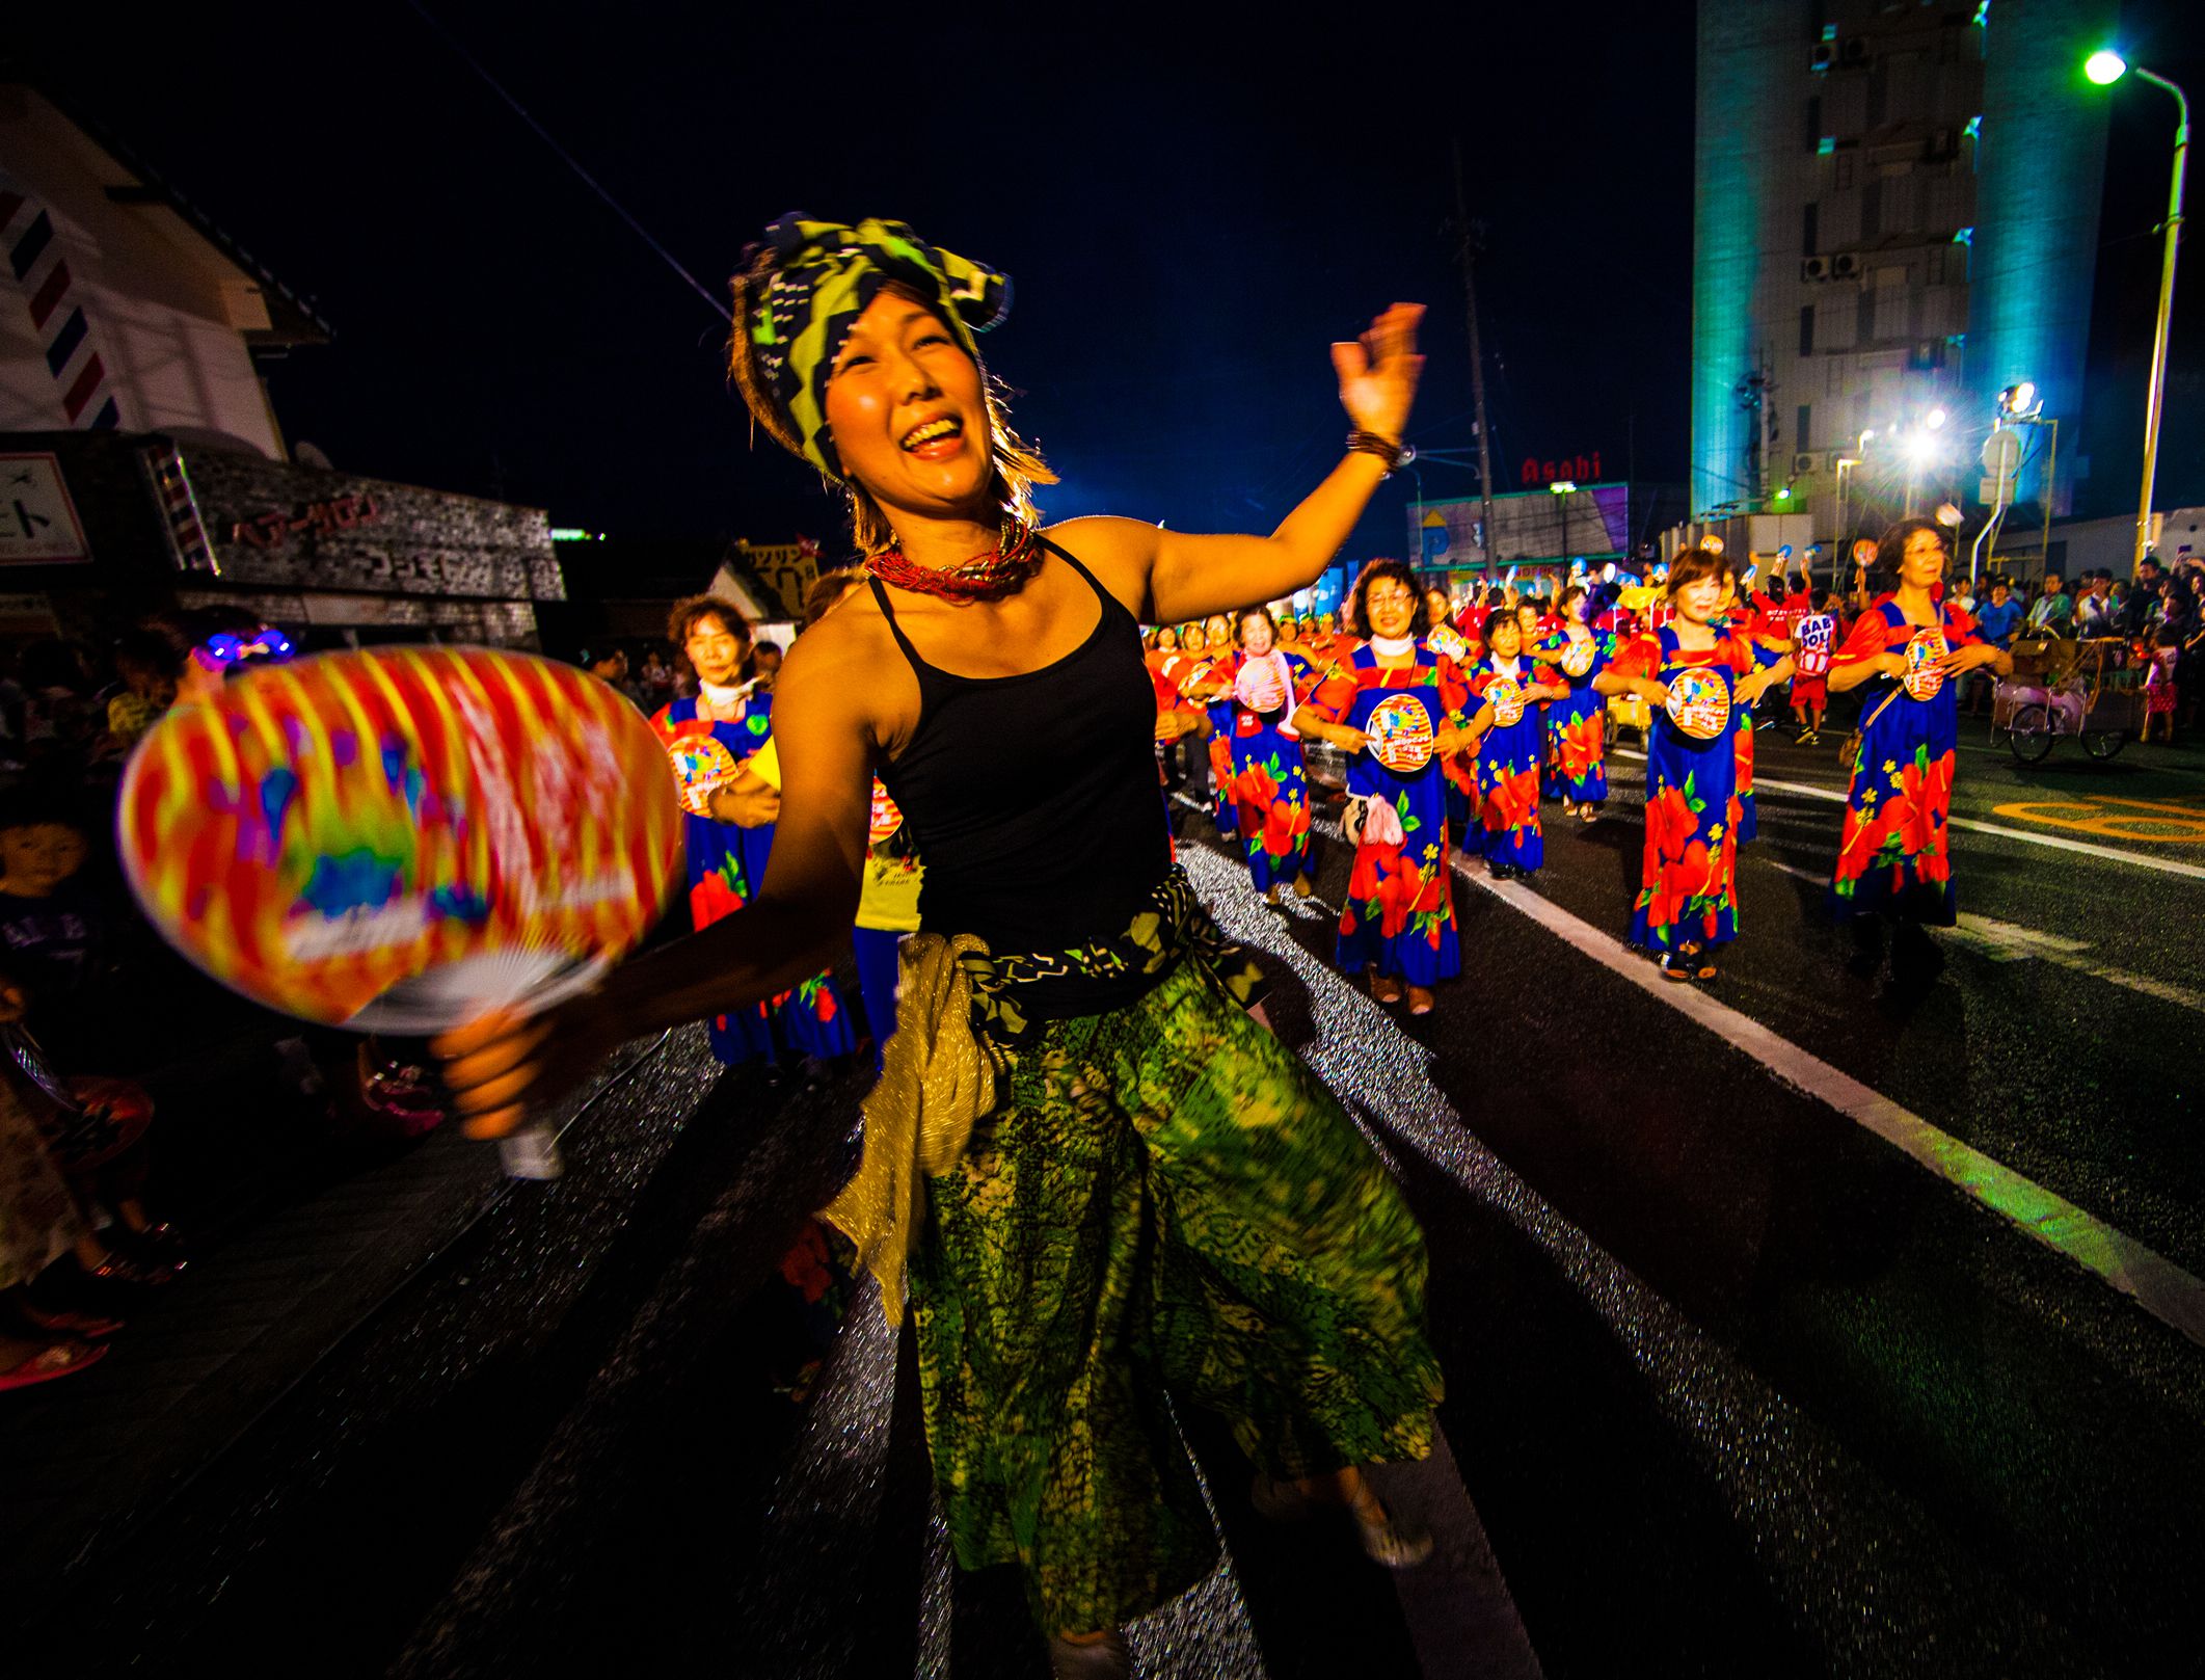
M 2000 390 L 2020 498 L 2088 472 L 2112 0 L 1700 0 L 1691 505 L 1817 538 L 1973 503 Z M 1863 437 L 1865 434 L 1865 437 Z

